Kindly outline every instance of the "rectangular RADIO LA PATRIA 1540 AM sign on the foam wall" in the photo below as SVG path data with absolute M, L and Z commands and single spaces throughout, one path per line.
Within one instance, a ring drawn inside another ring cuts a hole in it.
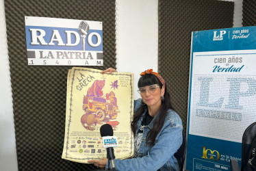
M 103 66 L 102 22 L 25 16 L 28 65 Z

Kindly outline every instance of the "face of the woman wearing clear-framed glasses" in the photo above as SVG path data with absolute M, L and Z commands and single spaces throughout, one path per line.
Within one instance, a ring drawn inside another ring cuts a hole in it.
M 164 96 L 164 89 L 160 89 L 158 84 L 145 86 L 140 89 L 140 96 L 148 107 L 159 107 L 162 104 L 161 96 Z M 146 90 L 146 91 L 144 91 Z

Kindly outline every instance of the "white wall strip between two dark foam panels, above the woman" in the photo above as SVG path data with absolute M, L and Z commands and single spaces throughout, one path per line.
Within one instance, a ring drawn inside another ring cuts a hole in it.
M 116 67 L 134 73 L 135 99 L 140 73 L 157 72 L 157 5 L 157 0 L 116 0 Z

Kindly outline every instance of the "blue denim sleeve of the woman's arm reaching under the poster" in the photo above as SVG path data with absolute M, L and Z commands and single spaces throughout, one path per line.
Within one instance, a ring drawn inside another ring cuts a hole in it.
M 172 157 L 182 144 L 182 126 L 166 127 L 148 155 L 132 159 L 115 159 L 116 170 L 158 170 Z

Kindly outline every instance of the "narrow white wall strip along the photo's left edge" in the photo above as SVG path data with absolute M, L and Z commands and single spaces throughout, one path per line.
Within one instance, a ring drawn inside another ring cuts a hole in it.
M 18 170 L 5 13 L 0 1 L 0 170 Z

